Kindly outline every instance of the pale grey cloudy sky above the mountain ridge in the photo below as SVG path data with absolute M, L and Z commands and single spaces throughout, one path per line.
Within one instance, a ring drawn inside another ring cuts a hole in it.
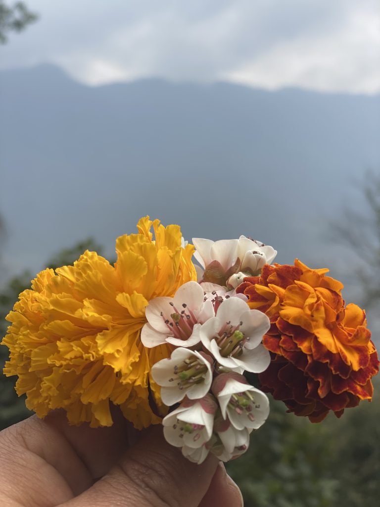
M 378 0 L 27 0 L 0 68 L 56 63 L 90 85 L 156 76 L 380 92 Z

